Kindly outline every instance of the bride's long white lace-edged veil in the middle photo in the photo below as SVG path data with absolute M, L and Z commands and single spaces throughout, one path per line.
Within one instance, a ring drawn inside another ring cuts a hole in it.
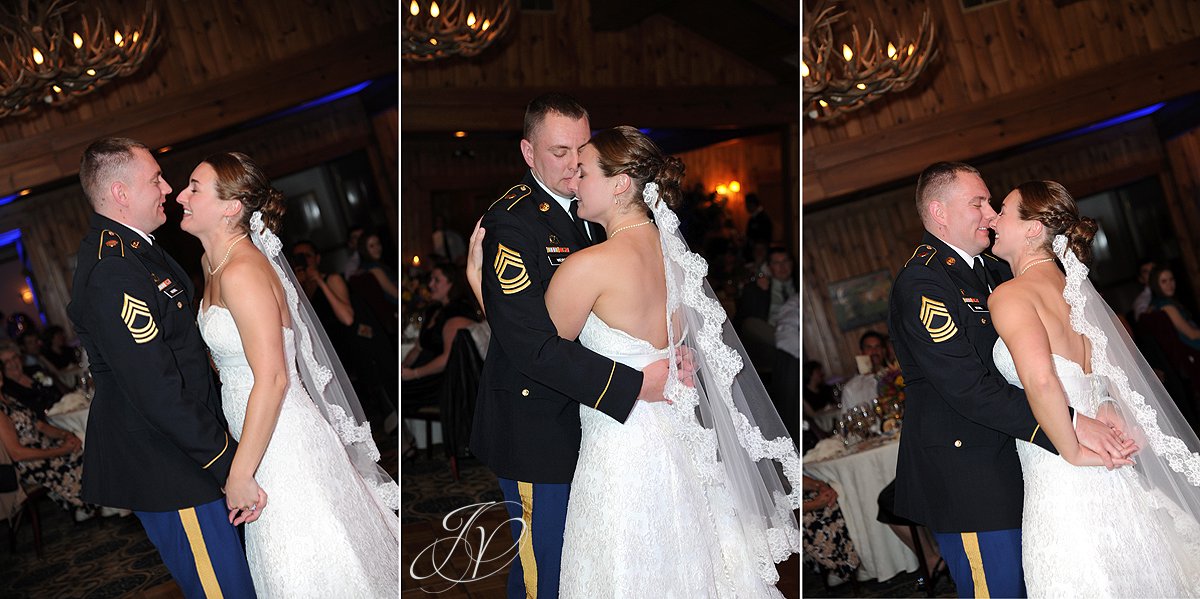
M 659 188 L 643 192 L 659 228 L 667 281 L 668 347 L 685 346 L 696 366 L 696 385 L 679 382 L 671 360 L 665 395 L 673 402 L 680 441 L 706 485 L 724 486 L 728 502 L 713 502 L 718 519 L 744 532 L 767 583 L 779 580 L 775 563 L 800 551 L 793 510 L 800 508 L 800 457 L 725 310 L 704 281 L 708 263 L 688 250 L 679 218 L 659 202 Z M 787 399 L 799 401 L 798 397 Z M 710 497 L 713 493 L 709 493 Z M 724 511 L 724 513 L 721 513 Z

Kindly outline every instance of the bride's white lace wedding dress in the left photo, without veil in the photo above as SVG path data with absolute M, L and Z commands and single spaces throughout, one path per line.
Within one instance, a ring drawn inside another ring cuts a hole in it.
M 202 309 L 200 334 L 221 371 L 229 432 L 241 438 L 254 376 L 233 315 Z M 296 372 L 294 333 L 284 328 L 288 389 L 254 479 L 263 515 L 246 525 L 246 559 L 262 598 L 398 595 L 398 544 L 342 441 L 317 411 Z

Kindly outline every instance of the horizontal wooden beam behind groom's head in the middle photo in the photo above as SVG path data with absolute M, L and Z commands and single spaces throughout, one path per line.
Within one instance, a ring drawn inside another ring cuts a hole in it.
M 524 107 L 546 91 L 570 94 L 592 115 L 593 127 L 655 128 L 782 125 L 800 118 L 799 89 L 577 88 L 401 89 L 402 132 L 521 131 Z

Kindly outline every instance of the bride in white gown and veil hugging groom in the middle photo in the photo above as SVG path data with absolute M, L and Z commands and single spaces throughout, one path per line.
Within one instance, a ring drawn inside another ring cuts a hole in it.
M 671 360 L 670 403 L 638 402 L 624 424 L 580 407 L 559 594 L 781 597 L 775 563 L 800 545 L 800 461 L 678 233 L 683 163 L 634 127 L 598 133 L 580 160 L 578 215 L 608 239 L 554 274 L 559 336 L 635 369 L 684 346 L 696 377 L 684 384 Z

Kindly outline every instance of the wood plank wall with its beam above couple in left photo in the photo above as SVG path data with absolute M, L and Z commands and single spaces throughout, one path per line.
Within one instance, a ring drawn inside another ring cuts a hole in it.
M 398 5 L 157 2 L 162 47 L 138 74 L 0 120 L 0 194 L 73 176 L 91 139 L 175 144 L 394 73 Z

